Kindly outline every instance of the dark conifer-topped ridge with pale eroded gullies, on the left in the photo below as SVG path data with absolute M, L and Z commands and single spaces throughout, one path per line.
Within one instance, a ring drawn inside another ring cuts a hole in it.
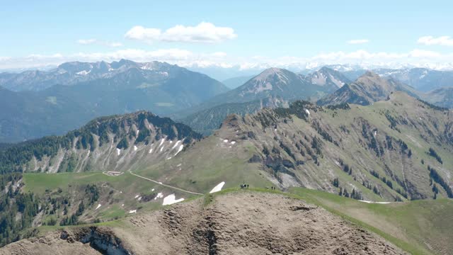
M 101 117 L 67 135 L 22 142 L 0 151 L 0 172 L 125 171 L 141 157 L 171 157 L 200 137 L 187 125 L 146 111 Z M 166 149 L 151 154 L 159 144 Z

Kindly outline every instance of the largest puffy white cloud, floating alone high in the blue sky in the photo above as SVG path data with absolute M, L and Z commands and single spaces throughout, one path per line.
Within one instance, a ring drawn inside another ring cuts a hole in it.
M 134 26 L 125 34 L 125 38 L 144 42 L 203 42 L 214 43 L 232 40 L 237 35 L 233 28 L 217 27 L 212 23 L 202 22 L 197 26 L 177 25 L 162 32 L 159 28 Z

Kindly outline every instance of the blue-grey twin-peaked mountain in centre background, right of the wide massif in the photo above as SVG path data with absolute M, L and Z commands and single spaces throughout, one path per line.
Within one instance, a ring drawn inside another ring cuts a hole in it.
M 306 76 L 286 69 L 270 68 L 236 89 L 179 113 L 176 118 L 208 135 L 231 113 L 245 115 L 263 107 L 287 106 L 295 100 L 314 101 L 348 82 L 350 80 L 343 74 L 327 67 Z

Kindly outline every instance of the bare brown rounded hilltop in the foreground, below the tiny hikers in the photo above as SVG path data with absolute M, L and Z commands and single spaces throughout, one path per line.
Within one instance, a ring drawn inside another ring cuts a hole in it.
M 382 237 L 301 200 L 243 191 L 216 196 L 209 205 L 202 203 L 202 199 L 193 200 L 128 217 L 122 227 L 98 227 L 96 232 L 110 233 L 109 238 L 104 234 L 104 244 L 120 247 L 110 249 L 117 253 L 103 253 L 406 254 Z M 69 235 L 67 239 L 76 239 Z M 91 248 L 81 242 L 69 243 L 51 234 L 47 236 L 51 240 L 45 246 L 52 251 L 62 247 L 77 254 L 79 249 Z M 110 242 L 105 242 L 106 239 Z M 11 254 L 45 254 L 35 249 L 42 246 L 36 241 L 39 239 L 33 240 L 9 244 L 0 249 L 0 254 L 16 249 L 21 253 Z

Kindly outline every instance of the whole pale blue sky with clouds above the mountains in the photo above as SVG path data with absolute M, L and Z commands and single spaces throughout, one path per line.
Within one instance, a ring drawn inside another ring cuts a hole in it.
M 183 65 L 442 65 L 453 62 L 452 9 L 448 1 L 7 1 L 0 68 L 118 57 Z M 214 39 L 194 42 L 210 29 L 197 28 L 202 22 L 213 26 Z M 166 35 L 177 25 L 184 36 Z M 127 36 L 136 26 L 142 34 Z M 197 29 L 187 35 L 190 27 Z M 149 28 L 160 34 L 149 36 Z M 216 35 L 218 28 L 229 30 Z

